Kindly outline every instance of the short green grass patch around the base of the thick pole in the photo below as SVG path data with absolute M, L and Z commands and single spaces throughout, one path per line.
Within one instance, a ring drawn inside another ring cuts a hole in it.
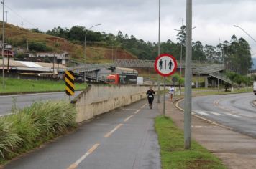
M 226 168 L 219 158 L 195 141 L 192 141 L 191 150 L 184 150 L 183 132 L 173 124 L 170 118 L 156 117 L 155 129 L 160 143 L 163 169 Z

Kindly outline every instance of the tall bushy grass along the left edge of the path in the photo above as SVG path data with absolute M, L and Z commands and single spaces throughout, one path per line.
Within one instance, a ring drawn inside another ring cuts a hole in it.
M 65 101 L 35 102 L 0 117 L 0 162 L 31 150 L 75 125 L 76 112 Z

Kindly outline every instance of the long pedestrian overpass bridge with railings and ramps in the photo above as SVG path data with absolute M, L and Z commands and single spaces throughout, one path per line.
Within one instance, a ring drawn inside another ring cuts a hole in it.
M 99 71 L 101 69 L 111 69 L 114 72 L 116 67 L 126 68 L 154 68 L 155 60 L 138 60 L 138 59 L 116 59 L 113 63 L 106 64 L 86 64 L 76 67 L 68 67 L 68 70 L 72 70 L 75 73 L 95 72 L 95 79 L 99 77 Z M 185 62 L 178 61 L 178 69 L 185 69 Z M 208 61 L 192 61 L 192 74 L 196 77 L 205 77 L 205 86 L 208 86 L 208 79 L 211 80 L 213 85 L 216 85 L 217 80 L 232 83 L 229 79 L 224 77 L 221 72 L 224 71 L 224 64 L 216 64 Z M 92 78 L 92 77 L 91 77 Z M 196 82 L 198 84 L 198 82 Z M 196 85 L 197 86 L 197 85 Z

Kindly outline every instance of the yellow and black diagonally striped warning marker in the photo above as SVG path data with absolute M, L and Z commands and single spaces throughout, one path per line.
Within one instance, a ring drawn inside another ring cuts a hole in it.
M 75 95 L 75 76 L 72 71 L 65 71 L 65 93 L 69 96 Z

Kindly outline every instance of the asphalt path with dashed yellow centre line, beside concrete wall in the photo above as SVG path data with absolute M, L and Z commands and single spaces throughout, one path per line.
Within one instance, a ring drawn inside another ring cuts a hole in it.
M 12 161 L 19 169 L 160 169 L 160 148 L 154 129 L 159 115 L 146 100 L 106 113 L 78 130 Z

